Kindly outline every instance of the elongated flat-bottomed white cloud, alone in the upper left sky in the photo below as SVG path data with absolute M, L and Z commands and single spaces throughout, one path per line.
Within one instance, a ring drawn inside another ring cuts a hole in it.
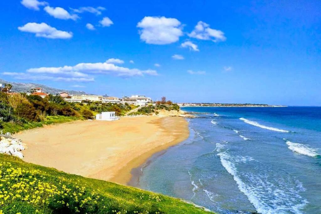
M 36 37 L 44 37 L 48 39 L 70 39 L 73 37 L 72 32 L 57 30 L 48 24 L 29 22 L 24 26 L 18 27 L 18 30 L 23 32 L 35 33 Z

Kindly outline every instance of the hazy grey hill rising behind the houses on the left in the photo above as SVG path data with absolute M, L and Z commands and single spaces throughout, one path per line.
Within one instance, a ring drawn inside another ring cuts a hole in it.
M 9 81 L 5 81 L 5 80 L 0 79 L 0 84 L 1 83 L 2 84 L 10 83 L 12 85 L 11 90 L 16 91 L 16 92 L 28 92 L 28 91 L 30 91 L 31 88 L 39 87 L 39 88 L 43 88 L 44 92 L 50 93 L 53 95 L 56 95 L 57 93 L 60 93 L 62 91 L 66 91 L 69 94 L 87 94 L 84 91 L 56 89 L 56 88 L 49 87 L 47 85 L 38 84 L 38 83 L 9 82 Z

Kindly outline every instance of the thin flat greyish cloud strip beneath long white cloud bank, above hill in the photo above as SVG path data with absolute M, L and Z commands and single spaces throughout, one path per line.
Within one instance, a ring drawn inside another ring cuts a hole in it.
M 18 80 L 51 80 L 51 81 L 66 81 L 66 82 L 91 82 L 94 81 L 92 77 L 63 77 L 63 76 L 50 76 L 50 75 L 35 75 L 31 73 L 17 73 L 17 72 L 3 72 L 7 76 L 13 76 Z

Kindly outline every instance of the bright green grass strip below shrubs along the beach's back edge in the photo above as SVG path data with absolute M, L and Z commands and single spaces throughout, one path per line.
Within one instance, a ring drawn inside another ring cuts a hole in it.
M 14 122 L 2 122 L 1 124 L 3 125 L 3 133 L 10 132 L 13 134 L 27 129 L 43 127 L 44 125 L 66 123 L 79 119 L 81 118 L 76 116 L 46 116 L 46 118 L 40 122 L 29 122 L 25 124 L 16 124 Z

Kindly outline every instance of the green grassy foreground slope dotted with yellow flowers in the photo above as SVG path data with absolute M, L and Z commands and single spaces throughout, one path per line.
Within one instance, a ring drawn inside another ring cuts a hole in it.
M 0 213 L 209 213 L 169 196 L 0 154 Z

